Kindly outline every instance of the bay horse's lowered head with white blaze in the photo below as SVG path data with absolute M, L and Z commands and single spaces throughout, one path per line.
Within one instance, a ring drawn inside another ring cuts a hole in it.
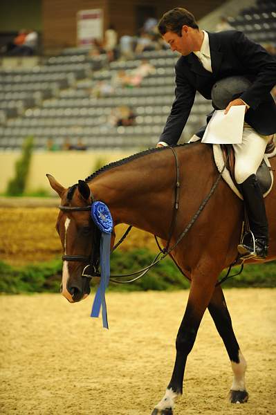
M 84 181 L 66 189 L 47 174 L 50 186 L 62 199 L 56 230 L 64 255 L 61 292 L 69 302 L 90 293 L 90 278 L 98 275 L 100 234 L 90 214 L 91 190 Z

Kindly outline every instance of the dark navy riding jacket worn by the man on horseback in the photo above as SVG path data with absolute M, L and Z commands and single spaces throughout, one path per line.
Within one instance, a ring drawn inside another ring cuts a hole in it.
M 245 121 L 265 136 L 275 133 L 276 104 L 270 94 L 276 84 L 275 57 L 237 30 L 208 35 L 212 73 L 203 68 L 194 53 L 178 59 L 175 67 L 176 99 L 159 141 L 176 144 L 190 115 L 196 91 L 210 100 L 214 83 L 234 75 L 243 75 L 252 82 L 241 95 L 250 106 Z M 196 135 L 202 137 L 205 127 Z

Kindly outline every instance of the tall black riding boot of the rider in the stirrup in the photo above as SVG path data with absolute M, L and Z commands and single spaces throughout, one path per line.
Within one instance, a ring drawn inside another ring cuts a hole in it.
M 254 241 L 251 238 L 248 243 L 239 244 L 238 251 L 242 259 L 254 257 L 264 259 L 268 253 L 268 220 L 266 219 L 264 197 L 255 174 L 251 174 L 246 181 L 239 185 L 239 188 L 246 205 L 250 230 L 255 237 L 255 249 Z

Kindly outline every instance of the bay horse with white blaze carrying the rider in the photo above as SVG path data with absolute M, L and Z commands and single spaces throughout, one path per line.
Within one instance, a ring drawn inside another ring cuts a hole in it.
M 219 174 L 210 145 L 193 143 L 174 149 L 180 165 L 181 187 L 172 246 L 199 209 Z M 275 158 L 271 159 L 271 165 L 275 169 Z M 92 194 L 96 200 L 108 206 L 114 227 L 118 223 L 134 225 L 156 235 L 163 246 L 166 245 L 174 210 L 176 181 L 175 160 L 168 147 L 143 151 L 111 163 L 68 189 L 53 176 L 47 176 L 50 186 L 62 199 L 61 204 L 72 208 L 59 212 L 56 225 L 67 259 L 71 256 L 89 257 L 93 250 L 95 227 L 90 213 L 74 209 L 91 205 Z M 275 184 L 265 201 L 270 231 L 266 261 L 271 261 L 276 258 Z M 151 415 L 173 414 L 175 402 L 183 391 L 187 356 L 194 345 L 206 308 L 221 335 L 232 365 L 234 379 L 230 388 L 230 402 L 244 403 L 248 400 L 246 360 L 234 335 L 223 291 L 221 286 L 216 285 L 221 271 L 237 257 L 242 219 L 243 202 L 221 179 L 192 228 L 170 254 L 185 277 L 190 279 L 190 293 L 176 337 L 172 378 Z M 115 232 L 111 246 L 114 238 Z M 69 302 L 80 301 L 89 295 L 89 279 L 82 276 L 87 264 L 83 261 L 64 261 L 62 294 Z

